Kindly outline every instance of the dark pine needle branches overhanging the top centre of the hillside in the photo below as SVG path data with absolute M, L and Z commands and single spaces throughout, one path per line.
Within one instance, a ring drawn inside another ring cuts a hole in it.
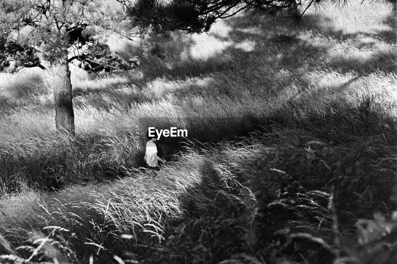
M 216 19 L 239 12 L 269 18 L 283 16 L 296 24 L 309 8 L 318 11 L 330 2 L 344 3 L 344 0 L 138 0 L 127 9 L 127 15 L 130 27 L 140 34 L 175 29 L 202 33 Z

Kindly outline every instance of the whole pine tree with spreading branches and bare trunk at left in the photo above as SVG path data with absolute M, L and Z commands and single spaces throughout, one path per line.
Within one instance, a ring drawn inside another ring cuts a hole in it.
M 126 7 L 123 0 L 0 0 L 0 71 L 48 71 L 56 128 L 74 136 L 69 63 L 94 73 L 134 68 L 135 59 L 112 54 L 104 39 L 123 33 Z

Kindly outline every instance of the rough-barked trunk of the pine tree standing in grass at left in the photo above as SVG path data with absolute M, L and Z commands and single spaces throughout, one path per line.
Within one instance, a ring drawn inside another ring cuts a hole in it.
M 48 72 L 50 73 L 50 87 L 54 89 L 55 127 L 60 132 L 74 136 L 72 84 L 66 52 L 62 58 L 48 65 Z

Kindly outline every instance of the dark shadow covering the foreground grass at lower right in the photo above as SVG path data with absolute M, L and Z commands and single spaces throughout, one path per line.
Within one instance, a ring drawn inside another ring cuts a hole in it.
M 270 152 L 269 149 L 272 148 L 268 148 L 264 153 L 258 153 L 256 160 L 247 162 L 241 158 L 237 161 L 238 164 L 220 162 L 219 160 L 227 155 L 227 147 L 225 147 L 227 143 L 225 143 L 221 151 L 214 151 L 216 154 L 212 158 L 206 157 L 205 162 L 200 166 L 201 182 L 187 189 L 186 193 L 189 195 L 180 198 L 185 215 L 179 222 L 173 223 L 174 230 L 170 228 L 165 231 L 166 237 L 170 239 L 157 249 L 147 250 L 145 254 L 148 257 L 156 255 L 156 258 L 151 259 L 153 263 L 162 263 L 165 260 L 170 263 L 183 262 L 182 260 L 190 263 L 193 262 L 190 258 L 197 260 L 198 256 L 202 263 L 219 263 L 231 258 L 233 254 L 254 255 L 255 251 L 263 249 L 272 239 L 274 241 L 285 239 L 283 235 L 276 235 L 274 232 L 285 230 L 283 228 L 286 227 L 289 231 L 296 228 L 296 232 L 308 232 L 322 237 L 332 244 L 330 218 L 328 220 L 324 218 L 323 222 L 320 219 L 324 215 L 316 216 L 316 210 L 312 210 L 312 207 L 306 207 L 304 202 L 297 202 L 299 197 L 313 190 L 330 192 L 331 184 L 334 184 L 336 190 L 333 199 L 337 207 L 341 231 L 349 232 L 357 218 L 371 217 L 372 210 L 386 212 L 392 204 L 388 202 L 388 198 L 393 193 L 394 172 L 389 170 L 392 168 L 391 164 L 384 164 L 389 168 L 388 170 L 378 169 L 373 165 L 378 164 L 382 157 L 394 153 L 393 145 L 397 140 L 395 124 L 394 130 L 382 127 L 382 119 L 379 119 L 376 113 L 369 113 L 370 109 L 366 109 L 365 105 L 364 101 L 358 108 L 345 109 L 345 113 L 340 112 L 337 116 L 330 116 L 328 122 L 313 118 L 303 127 L 294 128 L 293 124 L 282 124 L 281 120 L 278 120 L 275 133 L 263 135 L 266 139 L 263 144 L 267 146 L 271 142 L 274 146 L 276 142 L 280 142 L 278 147 Z M 349 119 L 348 112 L 352 114 L 353 121 Z M 356 126 L 354 136 L 349 127 L 350 124 L 353 126 L 353 123 Z M 301 142 L 302 145 L 296 142 L 297 134 L 309 131 L 313 133 L 313 138 L 326 140 L 324 133 L 333 133 L 330 127 L 339 130 L 340 135 L 343 134 L 343 140 L 335 144 L 320 143 L 318 140 L 314 140 L 316 143 Z M 384 145 L 382 135 L 387 138 L 387 146 Z M 294 144 L 291 144 L 291 139 L 295 140 L 292 141 Z M 382 143 L 378 140 L 382 140 Z M 373 151 L 369 153 L 363 149 L 361 145 L 363 143 L 370 144 Z M 308 152 L 316 158 L 308 157 Z M 243 156 L 244 154 L 241 154 L 239 157 Z M 324 163 L 317 159 L 321 159 Z M 244 169 L 239 167 L 240 163 L 243 164 Z M 233 171 L 233 166 L 239 169 Z M 251 171 L 247 168 L 251 168 Z M 281 177 L 277 173 L 272 175 L 274 168 L 279 170 L 278 173 L 285 172 L 289 180 L 284 181 L 286 177 Z M 226 173 L 222 174 L 223 172 Z M 233 180 L 241 184 L 245 182 L 243 185 L 251 188 L 254 193 L 251 203 L 247 199 L 249 196 L 247 193 L 244 197 L 242 186 L 239 184 L 233 186 L 229 172 L 237 176 Z M 248 179 L 251 180 L 246 182 Z M 272 188 L 282 190 L 283 194 L 274 196 Z M 364 198 L 368 190 L 371 190 L 371 195 Z M 283 203 L 278 204 L 280 201 Z M 291 201 L 291 204 L 288 201 Z M 276 205 L 270 206 L 272 202 Z M 328 199 L 323 199 L 322 207 L 327 208 L 328 202 Z M 286 207 L 294 207 L 295 204 L 296 210 L 286 210 Z M 256 223 L 254 225 L 247 216 L 253 209 L 258 209 L 251 218 Z M 312 233 L 313 230 L 316 231 Z M 173 239 L 174 237 L 178 239 Z M 197 250 L 198 248 L 205 250 L 200 251 Z M 321 247 L 319 249 L 321 250 Z M 284 249 L 284 254 L 297 256 L 299 250 L 302 249 L 290 247 Z M 313 247 L 310 246 L 305 250 L 313 250 Z M 330 254 L 331 252 L 322 253 L 311 256 L 313 261 L 308 263 L 331 263 L 332 258 L 335 258 Z M 299 259 L 303 261 L 305 257 L 301 255 Z

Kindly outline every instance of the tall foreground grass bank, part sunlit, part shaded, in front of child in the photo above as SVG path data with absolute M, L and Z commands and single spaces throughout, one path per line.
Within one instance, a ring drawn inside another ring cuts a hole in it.
M 354 124 L 368 118 L 365 112 L 358 115 Z M 339 112 L 328 119 L 341 136 L 351 134 L 345 118 Z M 384 202 L 395 177 L 396 133 L 382 128 L 374 113 L 369 118 L 356 136 L 341 137 L 339 144 L 327 142 L 334 131 L 315 122 L 274 124 L 266 134 L 237 142 L 193 143 L 156 175 L 129 172 L 112 184 L 10 197 L 1 203 L 2 233 L 24 245 L 14 254 L 25 259 L 35 252 L 29 232 L 79 262 L 93 255 L 95 263 L 106 263 L 114 254 L 140 263 L 213 263 L 255 251 L 253 256 L 272 258 L 267 250 L 294 254 L 282 235 L 273 233 L 285 225 L 291 235 L 321 226 L 313 235 L 328 239 L 331 213 L 321 199 L 328 199 L 331 185 L 343 232 L 351 232 L 352 214 L 389 210 L 391 204 Z M 316 196 L 321 193 L 325 198 Z M 319 211 L 310 210 L 310 203 L 318 203 Z M 272 239 L 281 239 L 285 248 L 264 249 Z M 310 258 L 318 263 L 316 256 Z M 33 259 L 48 254 L 39 251 Z

